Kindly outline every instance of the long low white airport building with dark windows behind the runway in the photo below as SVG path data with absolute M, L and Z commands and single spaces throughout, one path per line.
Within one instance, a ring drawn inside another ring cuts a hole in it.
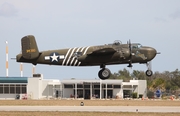
M 58 80 L 33 77 L 0 77 L 0 99 L 122 99 L 147 96 L 146 80 Z

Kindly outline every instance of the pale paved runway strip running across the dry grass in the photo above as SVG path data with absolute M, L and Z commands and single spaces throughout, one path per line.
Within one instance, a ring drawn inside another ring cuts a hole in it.
M 174 112 L 180 106 L 0 106 L 0 111 Z

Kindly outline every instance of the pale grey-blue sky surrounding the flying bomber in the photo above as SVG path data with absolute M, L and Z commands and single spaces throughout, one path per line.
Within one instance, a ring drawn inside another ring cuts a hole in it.
M 151 46 L 161 52 L 153 60 L 153 71 L 174 71 L 180 59 L 179 0 L 1 0 L 0 76 L 6 75 L 5 41 L 9 45 L 9 76 L 20 76 L 14 58 L 21 51 L 21 38 L 34 35 L 40 51 L 100 45 L 121 40 Z M 24 64 L 24 76 L 32 65 Z M 127 65 L 107 66 L 112 73 Z M 37 65 L 44 78 L 94 79 L 99 66 L 63 67 Z M 144 70 L 134 64 L 129 71 Z

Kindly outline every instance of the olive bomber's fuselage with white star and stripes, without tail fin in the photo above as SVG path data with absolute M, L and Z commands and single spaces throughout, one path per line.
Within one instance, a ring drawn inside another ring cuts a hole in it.
M 105 50 L 103 53 L 103 49 L 107 48 L 112 48 L 115 52 L 106 53 Z M 130 58 L 132 63 L 146 63 L 156 56 L 156 50 L 152 47 L 132 44 L 131 49 L 132 51 L 130 51 L 128 44 L 74 47 L 42 51 L 39 52 L 39 57 L 31 60 L 27 60 L 23 58 L 22 54 L 19 54 L 17 55 L 17 62 L 62 66 L 96 66 L 101 64 L 126 64 Z M 98 50 L 101 50 L 101 52 L 94 53 Z

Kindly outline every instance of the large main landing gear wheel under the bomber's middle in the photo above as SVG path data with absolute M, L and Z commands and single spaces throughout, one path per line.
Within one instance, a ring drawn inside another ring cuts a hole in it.
M 107 68 L 101 69 L 98 73 L 99 78 L 102 80 L 108 79 L 110 75 L 111 75 L 111 71 Z

